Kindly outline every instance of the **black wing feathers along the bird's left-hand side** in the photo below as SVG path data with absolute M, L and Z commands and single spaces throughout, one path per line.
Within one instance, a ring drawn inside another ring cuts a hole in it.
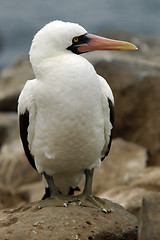
M 29 126 L 29 111 L 26 110 L 24 114 L 20 114 L 19 116 L 19 128 L 20 128 L 20 136 L 23 143 L 24 152 L 28 158 L 29 163 L 32 167 L 37 170 L 34 157 L 29 150 L 28 143 L 28 126 Z

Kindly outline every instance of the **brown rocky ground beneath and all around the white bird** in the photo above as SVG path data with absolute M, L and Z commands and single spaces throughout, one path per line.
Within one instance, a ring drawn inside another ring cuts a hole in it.
M 34 77 L 24 57 L 0 75 L 0 239 L 159 239 L 160 40 L 122 32 L 107 36 L 139 48 L 85 55 L 115 96 L 114 139 L 96 169 L 93 191 L 117 204 L 110 202 L 109 214 L 73 204 L 37 209 L 44 188 L 24 156 L 16 114 L 19 93 Z

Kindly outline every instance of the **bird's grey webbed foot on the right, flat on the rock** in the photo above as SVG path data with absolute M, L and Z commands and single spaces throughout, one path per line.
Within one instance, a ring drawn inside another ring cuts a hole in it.
M 82 193 L 77 198 L 77 204 L 85 207 L 97 208 L 102 212 L 110 213 L 111 208 L 105 199 L 95 197 L 92 194 Z M 75 202 L 76 202 L 75 201 Z

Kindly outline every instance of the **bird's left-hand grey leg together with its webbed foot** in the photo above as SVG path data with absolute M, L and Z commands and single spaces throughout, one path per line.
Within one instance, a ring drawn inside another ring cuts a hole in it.
M 50 197 L 46 198 L 45 200 L 42 200 L 40 202 L 40 208 L 43 207 L 67 207 L 69 203 L 69 199 L 67 199 L 67 196 L 62 195 L 58 189 L 56 188 L 54 184 L 53 177 L 46 174 L 45 172 L 43 173 L 44 177 L 48 183 L 49 186 L 49 191 L 50 191 Z

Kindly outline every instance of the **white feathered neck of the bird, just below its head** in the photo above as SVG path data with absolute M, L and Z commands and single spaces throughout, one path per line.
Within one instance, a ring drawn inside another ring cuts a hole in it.
M 62 79 L 62 77 L 74 79 L 77 74 L 86 74 L 93 68 L 85 58 L 72 53 L 45 58 L 32 66 L 36 78 L 47 82 L 53 81 L 53 79 Z

